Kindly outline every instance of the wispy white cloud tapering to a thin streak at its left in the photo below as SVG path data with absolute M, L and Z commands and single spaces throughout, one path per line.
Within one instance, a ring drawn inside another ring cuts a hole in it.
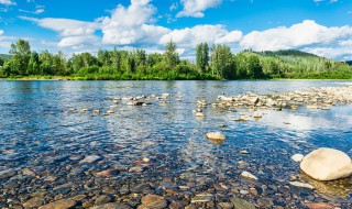
M 99 25 L 95 22 L 84 22 L 70 19 L 35 19 L 28 16 L 19 16 L 22 20 L 32 21 L 44 29 L 58 32 L 62 40 L 58 43 L 59 47 L 77 46 L 80 44 L 91 43 L 99 40 L 95 32 Z

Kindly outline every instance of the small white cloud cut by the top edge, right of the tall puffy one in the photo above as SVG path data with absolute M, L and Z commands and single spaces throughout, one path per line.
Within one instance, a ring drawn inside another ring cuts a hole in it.
M 178 12 L 176 18 L 182 16 L 193 16 L 193 18 L 204 18 L 205 11 L 209 8 L 215 8 L 219 6 L 222 0 L 180 0 L 184 6 L 183 11 Z

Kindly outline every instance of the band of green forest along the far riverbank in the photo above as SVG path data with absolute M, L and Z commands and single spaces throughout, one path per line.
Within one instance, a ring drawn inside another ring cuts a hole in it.
M 1 78 L 66 79 L 352 79 L 348 63 L 334 62 L 299 51 L 231 53 L 227 45 L 198 44 L 195 63 L 180 59 L 170 41 L 165 52 L 146 54 L 144 50 L 99 50 L 74 54 L 31 51 L 30 43 L 19 40 L 9 55 L 0 55 Z

